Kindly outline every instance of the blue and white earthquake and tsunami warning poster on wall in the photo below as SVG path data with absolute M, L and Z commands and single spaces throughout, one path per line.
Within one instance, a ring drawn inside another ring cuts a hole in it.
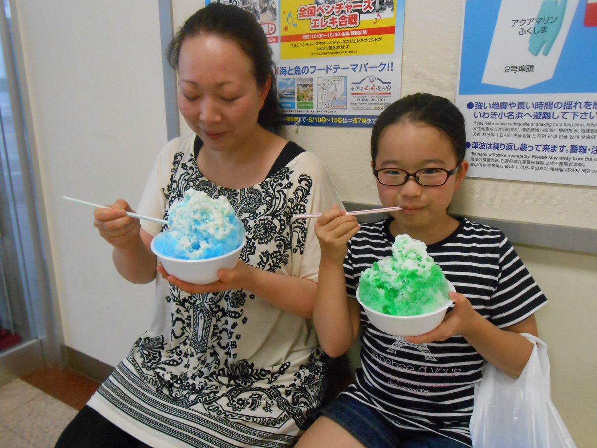
M 470 176 L 597 186 L 597 0 L 466 0 Z

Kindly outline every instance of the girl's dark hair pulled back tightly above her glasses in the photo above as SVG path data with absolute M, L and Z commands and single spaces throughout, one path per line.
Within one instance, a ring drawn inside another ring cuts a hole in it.
M 452 143 L 458 163 L 466 152 L 464 116 L 450 100 L 430 93 L 413 93 L 396 100 L 380 113 L 371 131 L 371 160 L 377 157 L 377 145 L 383 130 L 400 121 L 432 126 Z

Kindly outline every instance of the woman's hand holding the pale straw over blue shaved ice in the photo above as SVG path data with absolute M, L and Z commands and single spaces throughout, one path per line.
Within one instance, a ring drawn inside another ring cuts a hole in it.
M 128 216 L 134 211 L 127 201 L 119 199 L 110 207 L 96 208 L 93 212 L 93 225 L 100 236 L 116 248 L 123 248 L 139 238 L 141 223 L 138 218 Z

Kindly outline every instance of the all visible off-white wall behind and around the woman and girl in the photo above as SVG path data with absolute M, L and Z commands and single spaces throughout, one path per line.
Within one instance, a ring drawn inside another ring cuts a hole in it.
M 91 209 L 61 196 L 100 203 L 124 197 L 136 207 L 167 138 L 158 5 L 16 3 L 64 343 L 115 365 L 149 321 L 152 287 L 122 280 L 110 247 L 91 225 Z M 200 4 L 175 0 L 175 23 Z M 462 13 L 456 0 L 407 0 L 403 94 L 426 90 L 454 99 Z M 343 200 L 378 203 L 368 168 L 368 130 L 291 127 L 287 137 L 324 160 Z M 453 210 L 597 229 L 596 200 L 596 188 L 468 179 Z M 550 299 L 537 320 L 549 345 L 553 400 L 578 447 L 592 447 L 597 257 L 517 249 Z

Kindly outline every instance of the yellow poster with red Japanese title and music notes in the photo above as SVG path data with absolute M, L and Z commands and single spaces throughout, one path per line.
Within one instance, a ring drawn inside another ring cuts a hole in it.
M 281 0 L 280 57 L 392 54 L 394 0 Z M 392 7 L 380 8 L 380 3 Z

